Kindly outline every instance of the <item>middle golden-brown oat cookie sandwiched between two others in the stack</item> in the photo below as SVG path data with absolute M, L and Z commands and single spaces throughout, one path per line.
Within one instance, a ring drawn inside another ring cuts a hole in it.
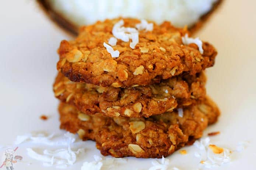
M 55 96 L 87 114 L 110 117 L 149 117 L 199 103 L 206 95 L 204 72 L 188 73 L 158 84 L 129 88 L 102 87 L 71 82 L 62 73 L 53 85 Z

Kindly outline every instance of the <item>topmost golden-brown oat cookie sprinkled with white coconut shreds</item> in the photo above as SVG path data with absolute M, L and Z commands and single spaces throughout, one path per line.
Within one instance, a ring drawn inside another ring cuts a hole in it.
M 164 22 L 153 23 L 150 31 L 141 30 L 137 24 L 141 21 L 117 18 L 82 27 L 75 40 L 60 43 L 57 69 L 73 82 L 131 87 L 183 72 L 194 75 L 214 65 L 215 48 L 200 40 L 201 46 L 183 40 L 188 33 L 185 28 Z M 118 38 L 116 45 L 115 40 L 109 42 L 113 37 Z

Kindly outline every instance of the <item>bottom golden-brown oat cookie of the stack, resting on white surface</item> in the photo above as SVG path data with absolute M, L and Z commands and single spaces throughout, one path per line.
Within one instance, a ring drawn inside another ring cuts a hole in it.
M 83 140 L 96 141 L 104 156 L 161 158 L 201 137 L 210 119 L 207 116 L 219 115 L 215 105 L 208 106 L 215 112 L 206 114 L 191 106 L 183 109 L 182 117 L 173 111 L 150 118 L 111 118 L 100 113 L 85 115 L 61 103 L 60 128 L 78 133 Z

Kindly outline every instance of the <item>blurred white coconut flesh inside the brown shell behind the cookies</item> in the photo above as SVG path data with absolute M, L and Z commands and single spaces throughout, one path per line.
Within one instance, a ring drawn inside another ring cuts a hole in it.
M 193 26 L 217 0 L 48 0 L 52 9 L 76 26 L 116 17 Z

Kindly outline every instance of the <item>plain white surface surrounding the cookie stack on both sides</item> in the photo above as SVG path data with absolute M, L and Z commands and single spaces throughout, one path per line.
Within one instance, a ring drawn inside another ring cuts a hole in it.
M 218 50 L 216 64 L 207 69 L 207 92 L 220 106 L 222 115 L 205 134 L 220 131 L 211 141 L 227 148 L 235 148 L 239 141 L 250 142 L 230 164 L 216 168 L 220 170 L 256 169 L 255 6 L 254 0 L 224 0 L 195 35 Z M 57 73 L 56 50 L 61 40 L 71 37 L 53 24 L 33 0 L 1 1 L 0 21 L 0 147 L 13 146 L 17 135 L 31 131 L 64 133 L 59 130 L 58 101 L 52 84 Z M 49 120 L 39 119 L 42 114 L 50 116 Z M 26 147 L 21 145 L 17 150 L 24 161 L 14 165 L 16 170 L 55 169 L 29 158 Z M 84 157 L 69 169 L 80 169 L 84 161 L 100 155 L 92 141 L 84 142 L 83 147 Z M 187 155 L 176 152 L 168 156 L 171 165 L 180 170 L 197 169 L 194 148 L 185 149 Z M 0 154 L 3 152 L 4 148 L 0 148 Z M 148 169 L 151 161 L 129 158 L 127 164 L 116 169 Z

